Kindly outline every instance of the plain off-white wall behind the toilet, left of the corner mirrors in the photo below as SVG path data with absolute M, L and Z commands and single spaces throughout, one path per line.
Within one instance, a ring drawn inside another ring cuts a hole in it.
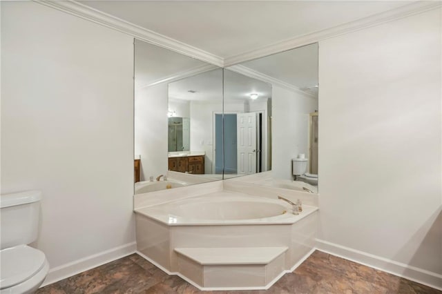
M 1 61 L 1 193 L 43 192 L 51 271 L 133 251 L 133 38 L 2 1 Z

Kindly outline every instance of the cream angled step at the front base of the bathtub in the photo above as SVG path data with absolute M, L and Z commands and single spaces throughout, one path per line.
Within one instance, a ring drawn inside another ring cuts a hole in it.
M 178 272 L 205 290 L 262 288 L 285 271 L 287 247 L 175 248 Z

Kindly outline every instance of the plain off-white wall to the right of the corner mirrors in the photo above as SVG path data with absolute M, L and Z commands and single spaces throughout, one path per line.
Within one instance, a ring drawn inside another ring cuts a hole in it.
M 321 41 L 319 77 L 320 246 L 442 283 L 440 10 Z

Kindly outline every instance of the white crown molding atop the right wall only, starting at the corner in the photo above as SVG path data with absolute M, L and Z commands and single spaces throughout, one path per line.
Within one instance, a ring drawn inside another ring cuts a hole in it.
M 339 26 L 334 26 L 332 28 L 312 32 L 306 35 L 292 37 L 284 41 L 278 41 L 268 46 L 255 48 L 253 50 L 249 50 L 238 55 L 224 58 L 224 66 L 232 66 L 234 64 L 249 61 L 251 59 L 257 59 L 278 52 L 306 46 L 311 43 L 316 43 L 318 41 L 323 41 L 325 39 L 344 35 L 349 32 L 355 32 L 358 30 L 363 30 L 364 28 L 377 26 L 381 23 L 387 23 L 390 21 L 395 21 L 396 19 L 410 17 L 414 14 L 419 14 L 428 10 L 440 8 L 441 6 L 442 3 L 440 1 L 416 1 L 415 3 L 408 4 L 407 6 L 374 14 L 370 17 L 365 17 L 363 19 L 358 19 L 356 21 L 351 21 L 349 23 L 344 23 Z

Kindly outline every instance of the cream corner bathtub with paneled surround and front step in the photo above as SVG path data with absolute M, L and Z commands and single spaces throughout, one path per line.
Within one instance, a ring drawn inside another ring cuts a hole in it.
M 302 199 L 302 213 L 278 195 Z M 202 290 L 269 288 L 312 252 L 316 203 L 308 193 L 225 181 L 135 195 L 137 251 Z

